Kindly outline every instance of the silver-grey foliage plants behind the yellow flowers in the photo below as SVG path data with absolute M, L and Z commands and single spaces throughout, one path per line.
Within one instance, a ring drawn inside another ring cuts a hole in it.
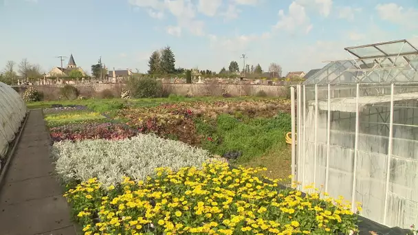
M 56 142 L 52 157 L 56 159 L 56 172 L 63 181 L 97 177 L 103 186 L 110 186 L 120 183 L 124 176 L 144 179 L 159 167 L 173 170 L 199 167 L 210 159 L 210 153 L 183 142 L 139 134 L 131 139 L 114 141 Z

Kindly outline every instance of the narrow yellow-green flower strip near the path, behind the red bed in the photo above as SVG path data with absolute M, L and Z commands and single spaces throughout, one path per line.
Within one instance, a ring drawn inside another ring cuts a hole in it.
M 69 113 L 50 113 L 45 115 L 48 127 L 64 126 L 67 124 L 87 124 L 108 122 L 107 118 L 96 112 L 77 111 Z

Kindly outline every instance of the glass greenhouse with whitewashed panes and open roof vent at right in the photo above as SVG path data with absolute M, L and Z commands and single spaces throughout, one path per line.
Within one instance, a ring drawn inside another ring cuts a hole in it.
M 418 223 L 418 49 L 406 40 L 345 50 L 296 87 L 292 170 L 304 186 L 362 203 L 389 227 Z M 294 89 L 292 89 L 294 90 Z

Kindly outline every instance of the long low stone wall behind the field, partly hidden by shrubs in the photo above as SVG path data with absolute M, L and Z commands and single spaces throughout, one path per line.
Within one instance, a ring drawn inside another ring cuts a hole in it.
M 80 96 L 87 98 L 102 98 L 104 93 L 112 93 L 113 96 L 120 97 L 124 86 L 124 84 L 74 85 L 80 91 Z M 28 87 L 41 91 L 45 100 L 56 100 L 63 85 L 19 86 L 14 89 L 23 93 Z M 164 89 L 168 93 L 181 96 L 188 94 L 191 96 L 221 96 L 223 93 L 229 93 L 230 96 L 261 96 L 261 93 L 265 93 L 266 96 L 287 97 L 289 93 L 289 87 L 269 85 L 164 84 Z

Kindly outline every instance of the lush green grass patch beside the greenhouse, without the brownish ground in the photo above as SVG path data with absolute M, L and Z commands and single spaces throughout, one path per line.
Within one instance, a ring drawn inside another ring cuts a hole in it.
M 195 120 L 197 131 L 210 137 L 202 147 L 210 152 L 223 155 L 230 151 L 241 151 L 239 162 L 245 163 L 261 157 L 272 146 L 285 146 L 285 133 L 290 129 L 290 115 L 279 113 L 273 118 L 239 120 L 232 115 L 219 115 L 216 123 Z

